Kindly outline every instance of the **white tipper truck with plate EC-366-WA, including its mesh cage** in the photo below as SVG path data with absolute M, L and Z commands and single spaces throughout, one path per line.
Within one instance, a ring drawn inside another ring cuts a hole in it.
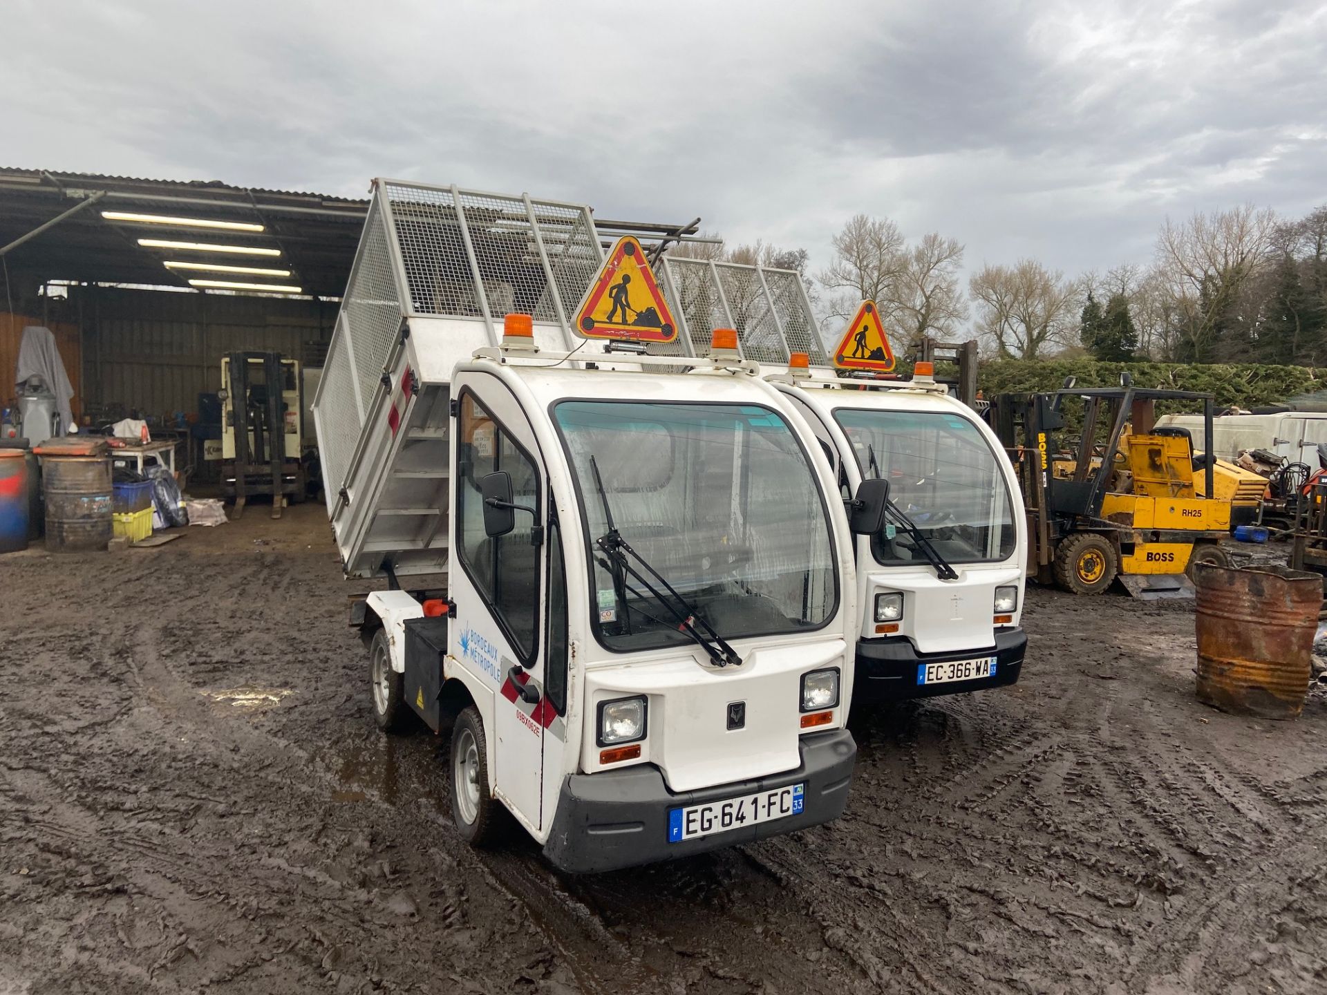
M 678 256 L 661 269 L 687 341 L 705 342 L 715 324 L 736 329 L 742 357 L 760 364 L 813 432 L 845 501 L 864 482 L 889 482 L 881 528 L 853 537 L 853 702 L 1016 682 L 1027 520 L 1014 466 L 981 417 L 936 382 L 930 364 L 912 379 L 840 375 L 796 272 Z M 836 352 L 851 356 L 848 330 Z M 878 321 L 876 332 L 884 350 Z M 881 366 L 867 345 L 864 365 Z

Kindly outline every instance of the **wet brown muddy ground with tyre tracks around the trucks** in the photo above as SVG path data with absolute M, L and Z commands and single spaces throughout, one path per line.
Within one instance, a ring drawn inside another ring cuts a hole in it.
M 855 716 L 832 825 L 568 878 L 373 726 L 322 509 L 0 559 L 0 992 L 1327 990 L 1327 700 L 1034 592 L 1023 681 Z

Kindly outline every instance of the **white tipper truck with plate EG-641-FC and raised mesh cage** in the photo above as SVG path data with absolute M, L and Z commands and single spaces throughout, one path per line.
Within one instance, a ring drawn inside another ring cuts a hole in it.
M 584 206 L 376 180 L 313 403 L 345 572 L 389 580 L 352 613 L 378 724 L 450 727 L 460 834 L 500 804 L 571 872 L 832 820 L 856 755 L 837 482 L 735 341 L 573 336 L 600 239 Z

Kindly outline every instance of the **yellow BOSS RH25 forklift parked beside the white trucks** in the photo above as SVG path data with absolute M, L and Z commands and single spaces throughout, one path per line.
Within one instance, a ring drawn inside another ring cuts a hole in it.
M 1062 448 L 1070 399 L 1082 401 L 1083 427 Z M 991 401 L 990 425 L 1018 467 L 1038 581 L 1099 594 L 1119 577 L 1139 598 L 1192 597 L 1196 564 L 1230 565 L 1220 543 L 1231 527 L 1222 495 L 1233 488 L 1217 480 L 1229 471 L 1194 456 L 1186 430 L 1154 427 L 1157 401 L 1201 403 L 1212 438 L 1210 394 L 1135 387 L 1128 374 L 1119 387 L 1068 379 L 1054 394 Z

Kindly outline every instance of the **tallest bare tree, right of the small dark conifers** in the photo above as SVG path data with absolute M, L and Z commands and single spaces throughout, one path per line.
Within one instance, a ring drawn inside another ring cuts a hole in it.
M 1251 204 L 1231 211 L 1166 219 L 1157 235 L 1157 271 L 1178 317 L 1177 357 L 1190 362 L 1216 358 L 1230 325 L 1247 325 L 1241 295 L 1270 259 L 1277 215 Z

